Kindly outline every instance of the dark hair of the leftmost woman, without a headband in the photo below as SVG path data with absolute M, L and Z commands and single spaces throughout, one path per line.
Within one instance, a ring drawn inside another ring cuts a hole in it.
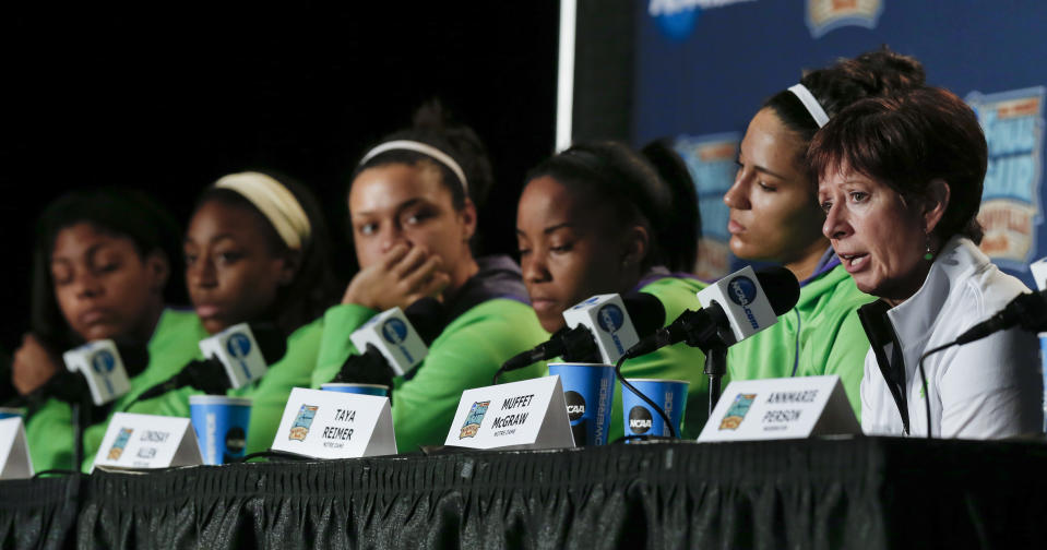
M 181 229 L 175 218 L 141 191 L 102 188 L 73 191 L 50 203 L 36 225 L 33 250 L 33 282 L 29 324 L 34 333 L 55 349 L 67 349 L 82 342 L 74 334 L 55 297 L 51 279 L 51 253 L 62 229 L 90 224 L 102 232 L 126 237 L 141 258 L 163 254 L 170 266 L 167 288 L 179 279 L 181 270 Z

